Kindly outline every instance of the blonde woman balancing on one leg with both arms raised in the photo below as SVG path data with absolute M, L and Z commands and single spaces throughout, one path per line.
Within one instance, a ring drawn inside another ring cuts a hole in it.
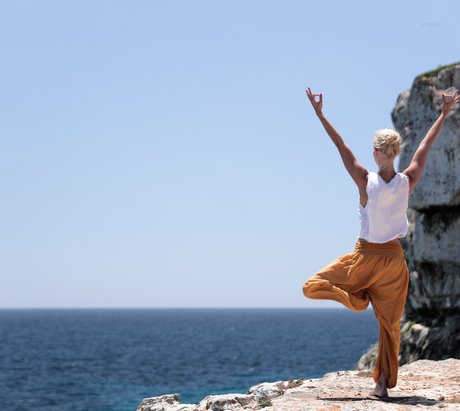
M 400 152 L 399 133 L 377 130 L 373 152 L 378 166 L 375 173 L 356 160 L 326 119 L 322 94 L 313 94 L 310 88 L 305 91 L 358 186 L 361 230 L 354 252 L 338 257 L 305 281 L 303 293 L 311 299 L 338 301 L 352 311 L 363 311 L 372 303 L 379 325 L 379 349 L 373 372 L 376 386 L 369 395 L 387 397 L 387 389 L 396 386 L 398 376 L 400 320 L 409 285 L 409 269 L 399 238 L 407 234 L 409 197 L 422 175 L 428 152 L 447 114 L 460 101 L 460 94 L 456 90 L 451 96 L 442 95 L 441 114 L 402 173 L 397 173 L 393 164 Z

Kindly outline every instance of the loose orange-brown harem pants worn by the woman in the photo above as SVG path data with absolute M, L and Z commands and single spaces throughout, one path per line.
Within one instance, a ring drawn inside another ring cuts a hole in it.
M 334 300 L 352 311 L 369 302 L 379 325 L 379 349 L 373 378 L 383 370 L 387 388 L 396 386 L 400 320 L 406 303 L 409 269 L 401 244 L 358 240 L 353 253 L 336 258 L 303 284 L 306 297 Z

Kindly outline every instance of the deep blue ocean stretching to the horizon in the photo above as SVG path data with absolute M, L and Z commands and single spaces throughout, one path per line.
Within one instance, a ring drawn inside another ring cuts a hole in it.
M 0 410 L 135 411 L 264 381 L 352 369 L 378 338 L 372 310 L 0 310 Z

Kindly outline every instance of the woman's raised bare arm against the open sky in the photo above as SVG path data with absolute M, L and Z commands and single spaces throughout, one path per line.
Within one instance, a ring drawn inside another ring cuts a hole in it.
M 307 96 L 310 99 L 310 102 L 315 109 L 316 115 L 318 116 L 319 120 L 323 124 L 324 129 L 326 130 L 327 134 L 331 138 L 332 142 L 336 145 L 337 149 L 339 150 L 340 156 L 342 157 L 343 164 L 350 174 L 351 178 L 354 180 L 356 185 L 360 190 L 365 189 L 367 183 L 367 169 L 363 167 L 356 157 L 354 156 L 351 149 L 345 144 L 343 138 L 337 132 L 337 130 L 329 123 L 329 120 L 324 116 L 322 108 L 323 108 L 323 94 L 313 94 L 308 87 L 306 90 Z M 317 101 L 315 96 L 319 97 Z

